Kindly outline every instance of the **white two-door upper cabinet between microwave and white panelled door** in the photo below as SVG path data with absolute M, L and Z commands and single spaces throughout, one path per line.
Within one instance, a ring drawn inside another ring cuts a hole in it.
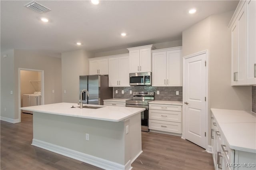
M 152 51 L 152 86 L 182 86 L 182 47 Z

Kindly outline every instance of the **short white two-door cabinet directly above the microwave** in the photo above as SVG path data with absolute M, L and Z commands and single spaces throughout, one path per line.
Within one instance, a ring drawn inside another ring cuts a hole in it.
M 151 72 L 151 49 L 153 45 L 127 48 L 129 50 L 129 72 Z

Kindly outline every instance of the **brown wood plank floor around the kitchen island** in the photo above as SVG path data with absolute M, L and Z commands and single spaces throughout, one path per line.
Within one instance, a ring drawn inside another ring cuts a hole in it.
M 1 170 L 98 170 L 84 162 L 32 146 L 32 115 L 21 123 L 1 121 Z M 212 155 L 178 136 L 142 132 L 142 154 L 133 170 L 214 170 Z

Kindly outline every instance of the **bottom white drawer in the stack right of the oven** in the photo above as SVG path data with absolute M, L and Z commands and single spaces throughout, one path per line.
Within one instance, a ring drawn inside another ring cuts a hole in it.
M 152 130 L 160 130 L 165 132 L 181 133 L 181 123 L 148 120 L 148 128 Z

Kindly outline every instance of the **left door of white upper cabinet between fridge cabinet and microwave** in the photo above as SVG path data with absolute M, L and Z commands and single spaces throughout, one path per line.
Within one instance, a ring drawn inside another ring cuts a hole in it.
M 119 86 L 119 60 L 118 57 L 108 59 L 108 86 Z M 129 77 L 129 76 L 128 76 Z

